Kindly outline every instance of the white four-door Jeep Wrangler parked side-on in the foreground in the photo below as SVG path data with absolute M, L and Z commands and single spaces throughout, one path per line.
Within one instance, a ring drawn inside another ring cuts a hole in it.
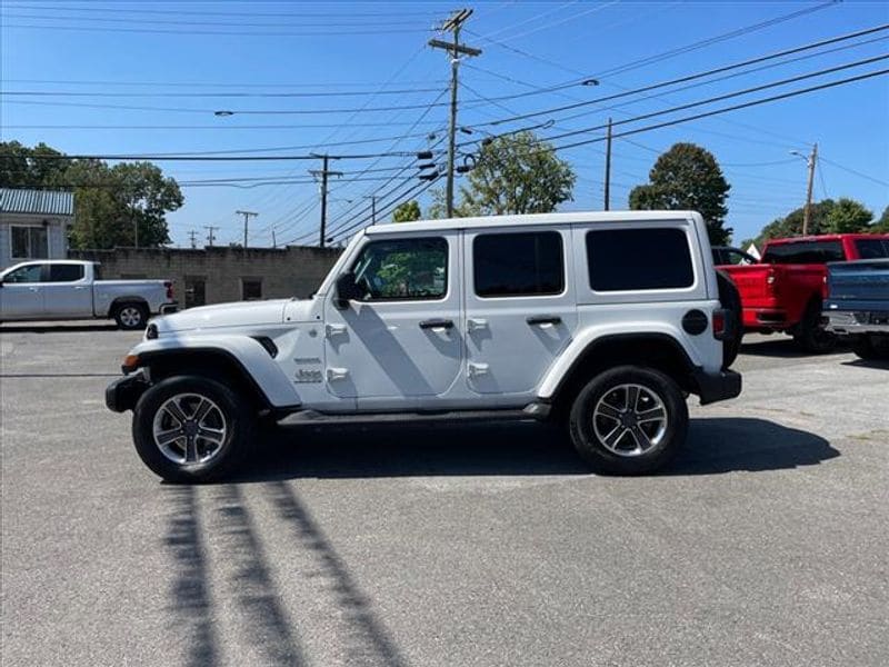
M 311 299 L 151 320 L 106 401 L 174 481 L 237 469 L 258 419 L 380 414 L 558 419 L 596 470 L 645 474 L 683 442 L 686 396 L 740 394 L 739 318 L 695 212 L 379 225 Z

